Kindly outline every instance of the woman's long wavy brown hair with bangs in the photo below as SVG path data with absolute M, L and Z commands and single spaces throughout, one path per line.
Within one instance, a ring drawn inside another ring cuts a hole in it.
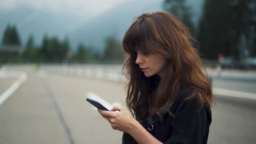
M 197 98 L 200 108 L 204 102 L 212 105 L 211 84 L 195 43 L 187 28 L 170 13 L 159 11 L 135 17 L 122 42 L 128 55 L 122 72 L 127 79 L 126 105 L 136 120 L 159 115 L 167 101 L 171 101 L 167 106 L 169 111 L 186 89 L 192 91 L 188 99 Z M 164 56 L 167 59 L 164 78 L 146 77 L 135 63 L 135 50 Z

